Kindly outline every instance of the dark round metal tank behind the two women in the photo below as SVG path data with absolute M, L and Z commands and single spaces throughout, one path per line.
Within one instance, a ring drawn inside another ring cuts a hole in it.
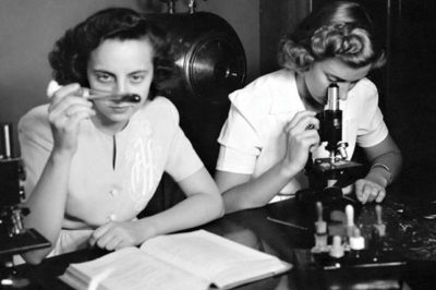
M 147 16 L 167 32 L 180 70 L 178 87 L 169 97 L 222 104 L 230 92 L 243 85 L 245 53 L 237 33 L 223 19 L 208 12 Z

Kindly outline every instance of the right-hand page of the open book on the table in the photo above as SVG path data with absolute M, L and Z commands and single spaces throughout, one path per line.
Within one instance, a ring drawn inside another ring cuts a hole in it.
M 220 288 L 290 268 L 290 264 L 275 256 L 205 230 L 157 237 L 144 242 L 141 249 L 196 273 Z

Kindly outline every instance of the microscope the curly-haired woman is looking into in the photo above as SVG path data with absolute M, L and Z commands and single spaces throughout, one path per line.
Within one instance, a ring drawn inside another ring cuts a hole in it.
M 342 110 L 339 108 L 339 86 L 332 83 L 327 89 L 326 109 L 316 116 L 319 120 L 320 142 L 326 142 L 328 157 L 312 158 L 305 166 L 308 189 L 296 193 L 298 201 L 317 201 L 323 204 L 343 205 L 353 203 L 342 194 L 342 188 L 353 183 L 363 176 L 361 164 L 348 160 L 348 143 L 342 141 Z

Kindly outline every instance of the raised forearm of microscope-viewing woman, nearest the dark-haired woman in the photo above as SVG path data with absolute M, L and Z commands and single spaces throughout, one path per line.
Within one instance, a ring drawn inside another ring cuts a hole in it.
M 278 162 L 262 176 L 225 191 L 222 194 L 226 213 L 268 204 L 300 170 Z

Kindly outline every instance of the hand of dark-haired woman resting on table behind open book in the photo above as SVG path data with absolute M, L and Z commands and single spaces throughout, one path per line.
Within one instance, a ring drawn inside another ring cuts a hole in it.
M 144 232 L 144 227 L 137 221 L 110 221 L 94 231 L 89 243 L 93 246 L 112 251 L 142 244 L 152 237 L 152 232 Z

